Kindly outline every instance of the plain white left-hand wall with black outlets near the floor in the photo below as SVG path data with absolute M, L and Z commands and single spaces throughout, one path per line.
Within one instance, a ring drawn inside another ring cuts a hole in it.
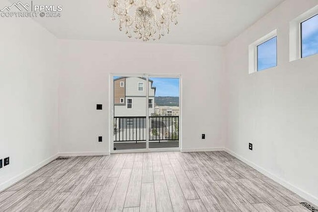
M 1 191 L 58 153 L 58 41 L 28 18 L 0 26 Z

